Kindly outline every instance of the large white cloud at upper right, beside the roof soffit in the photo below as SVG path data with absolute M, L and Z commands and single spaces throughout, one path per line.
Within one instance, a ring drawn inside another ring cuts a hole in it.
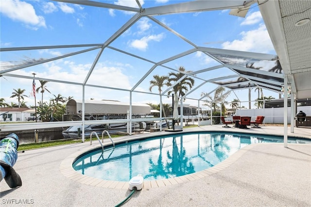
M 268 53 L 274 50 L 270 36 L 264 24 L 258 29 L 240 33 L 242 38 L 225 42 L 223 49 Z

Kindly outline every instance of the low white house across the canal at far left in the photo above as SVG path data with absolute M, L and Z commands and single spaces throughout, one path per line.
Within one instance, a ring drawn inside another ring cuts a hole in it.
M 28 107 L 0 107 L 0 121 L 30 121 L 35 119 L 35 109 Z

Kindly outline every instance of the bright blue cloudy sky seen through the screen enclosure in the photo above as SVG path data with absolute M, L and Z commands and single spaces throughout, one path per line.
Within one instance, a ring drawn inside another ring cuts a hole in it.
M 135 0 L 101 2 L 138 7 Z M 143 8 L 149 8 L 186 1 L 139 0 L 139 2 Z M 153 18 L 200 47 L 276 54 L 257 4 L 251 6 L 244 18 L 229 15 L 229 12 L 229 10 L 218 10 L 160 15 L 153 16 Z M 1 0 L 0 47 L 102 44 L 134 15 L 133 12 L 57 1 Z M 147 17 L 139 19 L 109 46 L 148 59 L 152 63 L 105 48 L 87 80 L 87 84 L 124 90 L 132 89 L 153 67 L 154 63 L 193 48 L 189 43 Z M 88 48 L 92 47 L 2 51 L 0 52 L 0 69 L 5 70 L 21 64 L 49 59 Z M 32 74 L 35 73 L 38 78 L 83 83 L 99 52 L 99 49 L 95 49 L 48 63 L 15 70 L 10 74 L 32 77 Z M 165 65 L 175 70 L 183 66 L 187 71 L 196 71 L 215 66 L 217 62 L 202 52 L 195 52 L 170 61 Z M 156 67 L 137 85 L 135 90 L 149 92 L 150 80 L 153 80 L 153 75 L 168 75 L 169 72 L 175 71 L 166 67 Z M 222 68 L 198 74 L 198 79 L 195 79 L 193 88 L 202 83 L 199 78 L 212 79 L 219 77 L 219 75 L 226 76 L 233 75 L 233 73 Z M 32 90 L 32 82 L 31 79 L 0 77 L 0 97 L 4 98 L 6 103 L 17 103 L 16 98 L 10 98 L 14 89 L 25 89 L 24 95 L 29 96 Z M 39 87 L 39 81 L 35 80 L 35 82 L 36 87 Z M 211 83 L 205 84 L 192 92 L 184 104 L 197 106 L 198 101 L 194 99 L 200 98 L 202 93 L 208 93 L 216 87 L 217 85 Z M 72 96 L 75 99 L 82 99 L 83 89 L 79 85 L 50 81 L 46 84 L 46 88 L 51 93 L 46 91 L 43 94 L 43 101 L 49 101 L 58 94 L 64 97 Z M 157 93 L 157 88 L 154 87 L 152 92 Z M 278 98 L 278 94 L 272 91 L 263 90 L 263 94 L 264 96 Z M 252 100 L 255 100 L 257 91 L 255 92 L 253 89 L 251 96 Z M 41 100 L 41 94 L 36 94 L 36 98 Z M 126 91 L 116 91 L 109 88 L 86 87 L 85 98 L 129 102 L 130 94 Z M 247 101 L 248 90 L 231 92 L 226 101 L 231 102 L 235 98 Z M 172 103 L 172 100 L 166 96 L 163 96 L 162 100 L 163 103 Z M 24 101 L 28 106 L 35 105 L 32 96 L 24 97 Z M 132 93 L 132 102 L 158 104 L 159 96 Z M 200 105 L 202 104 L 204 103 L 201 101 Z M 246 102 L 242 103 L 242 105 L 248 107 Z M 254 102 L 252 107 L 256 108 Z M 230 106 L 228 105 L 227 108 L 230 108 Z

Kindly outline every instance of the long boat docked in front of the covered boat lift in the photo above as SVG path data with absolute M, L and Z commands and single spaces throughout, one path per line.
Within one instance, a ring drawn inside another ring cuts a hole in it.
M 139 128 L 139 123 L 132 123 L 132 131 Z M 109 134 L 115 134 L 117 132 L 126 132 L 127 124 L 97 124 L 97 125 L 85 125 L 84 133 L 85 136 L 90 136 L 93 131 L 98 135 L 101 135 L 104 130 L 107 130 Z M 78 138 L 82 136 L 82 126 L 71 126 L 66 130 L 62 131 L 63 137 L 67 138 Z

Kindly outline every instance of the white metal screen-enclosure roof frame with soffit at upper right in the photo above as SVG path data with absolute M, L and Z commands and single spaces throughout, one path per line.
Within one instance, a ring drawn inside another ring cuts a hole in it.
M 187 76 L 191 76 L 198 82 L 191 91 L 185 96 L 190 98 L 190 94 L 194 90 L 198 90 L 206 84 L 214 85 L 207 94 L 214 92 L 218 87 L 225 87 L 226 93 L 233 90 L 249 89 L 254 87 L 260 87 L 266 90 L 270 90 L 276 93 L 281 93 L 282 85 L 284 84 L 284 77 L 288 78 L 288 83 L 291 85 L 292 93 L 296 98 L 310 98 L 311 97 L 311 27 L 310 23 L 302 26 L 295 26 L 295 23 L 304 18 L 310 18 L 311 16 L 311 1 L 308 0 L 258 0 L 258 1 L 244 1 L 244 0 L 231 0 L 231 1 L 216 1 L 216 0 L 204 0 L 204 1 L 189 1 L 178 2 L 164 6 L 155 6 L 151 8 L 142 8 L 138 3 L 138 8 L 127 7 L 123 5 L 115 5 L 110 3 L 104 3 L 101 1 L 88 1 L 88 0 L 56 0 L 61 2 L 67 2 L 72 4 L 81 4 L 85 6 L 107 8 L 122 11 L 135 12 L 136 14 L 128 19 L 120 29 L 113 33 L 107 39 L 104 39 L 104 43 L 85 44 L 80 45 L 53 45 L 53 46 L 39 46 L 39 47 L 20 47 L 20 48 L 0 48 L 1 52 L 16 51 L 22 52 L 25 50 L 38 50 L 38 49 L 51 49 L 51 48 L 81 48 L 75 52 L 69 52 L 64 55 L 52 57 L 52 58 L 40 58 L 31 60 L 26 63 L 10 64 L 9 66 L 2 66 L 0 75 L 11 76 L 24 79 L 34 79 L 32 76 L 24 76 L 18 73 L 18 70 L 28 67 L 35 67 L 39 64 L 44 64 L 59 59 L 63 59 L 69 56 L 78 55 L 90 51 L 98 51 L 94 57 L 93 64 L 89 68 L 86 74 L 85 80 L 75 81 L 68 80 L 65 77 L 62 79 L 46 79 L 45 77 L 35 77 L 36 80 L 47 80 L 52 82 L 68 83 L 74 85 L 98 87 L 105 89 L 114 89 L 139 93 L 142 92 L 138 89 L 138 86 L 143 82 L 146 77 L 150 76 L 155 68 L 168 69 L 169 71 L 178 71 L 171 67 L 168 63 L 177 59 L 189 56 L 195 52 L 202 52 L 214 61 L 214 66 L 204 69 L 191 68 L 190 73 L 185 73 Z M 155 16 L 169 15 L 169 14 L 182 14 L 182 13 L 194 13 L 194 12 L 209 12 L 214 10 L 232 9 L 231 14 L 239 16 L 239 12 L 245 13 L 252 4 L 259 5 L 261 15 L 264 19 L 267 30 L 270 34 L 274 48 L 277 55 L 262 54 L 255 52 L 244 52 L 237 50 L 227 50 L 219 48 L 207 48 L 202 47 L 193 42 L 193 40 L 187 39 L 183 34 L 180 34 L 173 30 L 168 25 L 165 25 L 161 21 L 155 18 Z M 134 25 L 140 18 L 147 17 L 152 20 L 156 26 L 160 26 L 165 30 L 171 32 L 173 35 L 187 43 L 188 50 L 179 51 L 179 53 L 173 56 L 156 61 L 151 58 L 144 58 L 130 52 L 125 51 L 123 48 L 112 47 L 113 43 L 121 37 L 121 35 L 128 31 L 132 25 Z M 126 88 L 114 88 L 106 85 L 92 84 L 90 77 L 96 69 L 96 65 L 100 58 L 102 58 L 103 51 L 105 49 L 112 50 L 119 54 L 125 54 L 139 61 L 150 64 L 149 70 L 147 70 L 140 80 L 137 81 L 131 89 Z M 209 71 L 219 71 L 218 77 L 209 78 Z M 225 74 L 225 75 L 221 75 Z M 182 80 L 180 79 L 180 80 Z M 180 81 L 179 80 L 179 81 Z M 173 86 L 172 86 L 173 87 Z M 170 90 L 168 88 L 162 95 L 166 95 Z M 153 94 L 153 93 L 150 93 Z M 203 97 L 196 97 L 195 99 L 201 100 Z

